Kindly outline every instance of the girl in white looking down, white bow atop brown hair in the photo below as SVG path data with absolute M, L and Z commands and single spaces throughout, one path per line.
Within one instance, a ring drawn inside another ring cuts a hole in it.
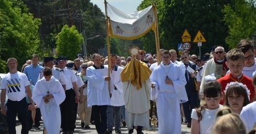
M 210 133 L 216 113 L 222 108 L 222 105 L 219 104 L 222 96 L 222 87 L 215 81 L 216 77 L 214 75 L 208 75 L 207 77 L 210 77 L 213 81 L 204 83 L 204 102 L 202 101 L 200 108 L 192 110 L 191 134 Z

